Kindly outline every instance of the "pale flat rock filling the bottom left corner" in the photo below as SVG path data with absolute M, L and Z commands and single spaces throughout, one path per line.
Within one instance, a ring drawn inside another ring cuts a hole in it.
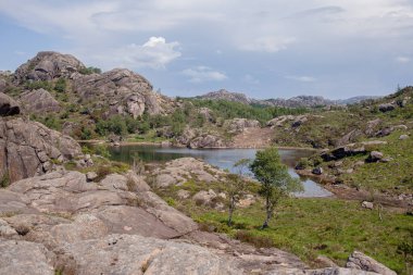
M 54 275 L 54 254 L 43 245 L 22 241 L 0 241 L 0 274 Z

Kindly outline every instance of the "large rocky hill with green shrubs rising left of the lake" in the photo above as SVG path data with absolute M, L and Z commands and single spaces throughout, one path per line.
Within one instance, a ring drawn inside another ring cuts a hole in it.
M 137 118 L 167 114 L 176 102 L 152 90 L 141 75 L 126 68 L 101 73 L 71 54 L 45 51 L 13 74 L 0 75 L 0 92 L 21 104 L 22 112 L 76 136 L 83 128 L 113 115 Z M 52 120 L 52 121 L 51 121 Z

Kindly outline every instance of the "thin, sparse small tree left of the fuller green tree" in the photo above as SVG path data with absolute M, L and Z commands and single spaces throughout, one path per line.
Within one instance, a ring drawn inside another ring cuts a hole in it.
M 237 168 L 237 174 L 227 175 L 227 189 L 228 189 L 228 226 L 233 224 L 233 214 L 236 209 L 237 202 L 243 196 L 247 182 L 243 177 L 245 170 L 248 167 L 250 160 L 242 159 L 234 164 L 234 167 Z

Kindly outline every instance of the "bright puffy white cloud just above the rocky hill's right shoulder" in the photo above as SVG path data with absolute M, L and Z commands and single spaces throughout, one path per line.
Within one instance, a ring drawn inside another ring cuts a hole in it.
M 112 51 L 112 54 L 96 54 L 95 60 L 109 63 L 108 66 L 132 68 L 165 68 L 182 55 L 177 41 L 166 42 L 163 37 L 151 37 L 143 45 L 130 43 Z

